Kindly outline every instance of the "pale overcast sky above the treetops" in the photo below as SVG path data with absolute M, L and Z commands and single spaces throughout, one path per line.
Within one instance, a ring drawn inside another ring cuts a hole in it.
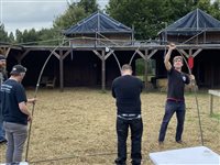
M 78 0 L 0 0 L 0 23 L 7 32 L 34 28 L 52 28 L 54 19 L 64 13 L 67 2 Z M 108 0 L 97 0 L 103 8 Z

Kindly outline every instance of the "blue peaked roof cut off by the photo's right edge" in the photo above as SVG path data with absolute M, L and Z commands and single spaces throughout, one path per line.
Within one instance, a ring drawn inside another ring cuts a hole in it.
M 194 35 L 201 31 L 220 31 L 220 21 L 196 9 L 160 32 L 168 35 Z

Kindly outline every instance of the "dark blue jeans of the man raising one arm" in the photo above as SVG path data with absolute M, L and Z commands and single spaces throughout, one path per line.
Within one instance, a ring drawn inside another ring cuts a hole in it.
M 184 131 L 184 121 L 185 121 L 185 102 L 184 101 L 166 101 L 165 107 L 165 114 L 162 121 L 158 141 L 163 142 L 166 135 L 167 125 L 169 123 L 169 120 L 172 119 L 173 114 L 176 112 L 177 118 L 177 127 L 176 127 L 176 138 L 175 140 L 182 141 L 182 134 Z

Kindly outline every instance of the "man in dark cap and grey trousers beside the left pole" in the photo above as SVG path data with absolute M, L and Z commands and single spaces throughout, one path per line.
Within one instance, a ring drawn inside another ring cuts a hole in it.
M 35 102 L 35 99 L 26 99 L 22 79 L 26 68 L 22 65 L 13 66 L 11 76 L 1 86 L 1 105 L 3 128 L 6 130 L 7 163 L 22 161 L 23 146 L 28 136 L 28 121 L 32 116 L 28 110 L 26 102 Z

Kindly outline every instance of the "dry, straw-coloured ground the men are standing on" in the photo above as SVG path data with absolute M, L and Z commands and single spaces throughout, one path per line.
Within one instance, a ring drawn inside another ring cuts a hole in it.
M 28 96 L 33 97 L 34 91 L 28 90 Z M 61 92 L 58 89 L 40 89 L 37 99 L 29 147 L 31 165 L 113 164 L 117 155 L 116 105 L 110 91 L 69 88 Z M 141 99 L 143 164 L 152 164 L 148 157 L 151 152 L 201 145 L 193 94 L 186 94 L 185 144 L 175 143 L 176 117 L 168 125 L 165 144 L 157 144 L 166 94 L 143 92 Z M 208 94 L 198 94 L 198 101 L 205 146 L 220 154 L 220 98 L 213 100 L 212 117 L 209 114 Z M 130 138 L 128 151 L 130 153 Z M 4 152 L 6 145 L 0 145 L 0 163 L 4 162 Z

